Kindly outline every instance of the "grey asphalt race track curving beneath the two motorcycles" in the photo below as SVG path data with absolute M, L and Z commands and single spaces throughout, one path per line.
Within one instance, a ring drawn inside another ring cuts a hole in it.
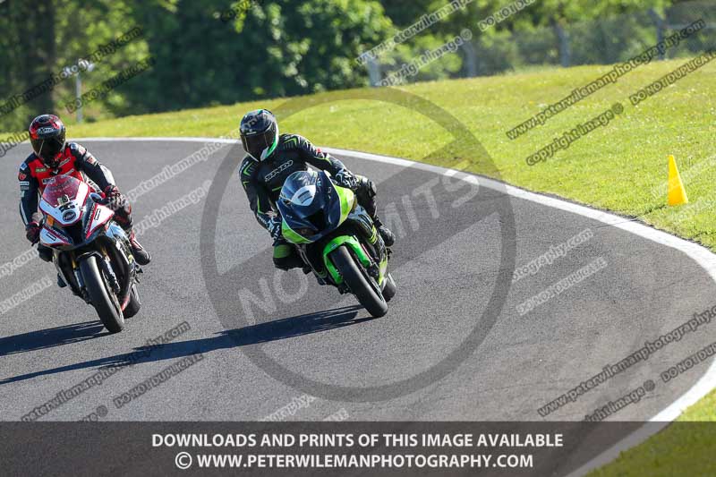
M 197 141 L 82 142 L 124 192 L 201 147 Z M 458 188 L 456 179 L 444 182 L 412 167 L 341 157 L 379 183 L 381 213 L 398 235 L 391 260 L 398 293 L 386 317 L 371 319 L 352 297 L 300 271 L 274 270 L 268 234 L 235 175 L 218 203 L 204 197 L 201 188 L 215 180 L 231 148 L 134 201 L 136 223 L 152 214 L 157 220 L 149 227 L 145 221 L 141 231 L 153 261 L 142 277 L 141 313 L 123 333 L 107 334 L 89 306 L 57 288 L 51 265 L 33 258 L 3 268 L 0 300 L 43 277 L 53 285 L 0 315 L 2 420 L 21 420 L 117 366 L 39 419 L 78 421 L 98 413 L 100 421 L 256 421 L 289 409 L 281 419 L 579 421 L 651 379 L 655 387 L 639 402 L 609 417 L 645 421 L 711 364 L 701 362 L 668 383 L 660 379 L 661 371 L 712 342 L 716 323 L 705 323 L 543 417 L 541 406 L 711 309 L 716 286 L 706 271 L 681 251 L 587 217 L 474 183 Z M 27 149 L 22 144 L 0 161 L 0 264 L 28 250 L 16 179 Z M 184 207 L 173 207 L 170 217 L 155 213 L 182 198 Z M 211 224 L 212 216 L 216 229 L 202 232 L 202 221 Z M 585 230 L 591 238 L 533 276 L 504 280 L 512 275 L 505 263 L 524 266 Z M 213 258 L 202 261 L 202 252 L 212 250 Z M 205 268 L 214 258 L 212 275 Z M 593 263 L 600 267 L 588 277 L 524 315 L 517 311 Z M 149 338 L 183 322 L 189 327 L 177 328 L 182 332 L 171 341 L 148 346 Z M 171 379 L 128 401 L 115 399 L 182 360 L 191 365 Z

